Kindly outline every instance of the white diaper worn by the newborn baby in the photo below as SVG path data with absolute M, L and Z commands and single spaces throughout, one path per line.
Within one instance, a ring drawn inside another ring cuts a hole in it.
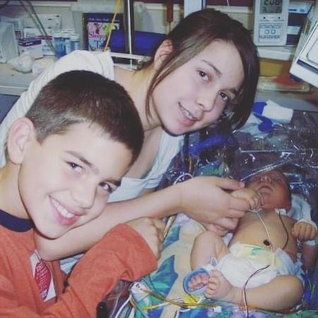
M 283 251 L 276 249 L 270 252 L 256 245 L 235 243 L 230 247 L 230 253 L 220 259 L 216 269 L 237 287 L 257 287 L 269 283 L 280 275 L 297 276 L 304 283 L 301 262 L 296 263 Z

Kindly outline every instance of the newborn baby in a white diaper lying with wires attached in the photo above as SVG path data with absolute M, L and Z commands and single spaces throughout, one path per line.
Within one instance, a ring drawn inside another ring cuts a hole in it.
M 271 170 L 250 179 L 249 189 L 233 192 L 245 197 L 252 208 L 261 195 L 261 209 L 247 213 L 235 230 L 227 247 L 214 232 L 199 235 L 192 249 L 192 269 L 214 259 L 211 276 L 204 271 L 192 272 L 184 280 L 189 293 L 204 288 L 207 298 L 266 310 L 284 310 L 295 306 L 302 297 L 302 269 L 297 240 L 312 240 L 317 229 L 310 223 L 300 224 L 283 215 L 291 208 L 290 190 L 285 175 Z M 301 222 L 303 223 L 303 222 Z M 301 228 L 301 229 L 299 229 Z M 304 230 L 305 228 L 305 230 Z M 271 288 L 266 283 L 271 282 Z M 264 288 L 257 288 L 257 286 Z M 250 288 L 245 290 L 245 288 Z M 247 299 L 242 298 L 242 290 Z M 282 295 L 285 293 L 285 297 Z M 281 300 L 284 300 L 283 302 Z

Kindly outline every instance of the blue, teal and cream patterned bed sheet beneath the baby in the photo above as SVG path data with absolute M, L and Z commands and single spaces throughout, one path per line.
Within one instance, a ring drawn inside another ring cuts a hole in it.
M 314 310 L 313 306 L 313 304 L 317 304 L 316 293 L 312 293 L 312 299 L 304 301 L 302 308 L 296 312 L 284 314 L 252 310 L 228 302 L 216 302 L 187 295 L 182 287 L 182 281 L 190 271 L 189 254 L 194 238 L 202 230 L 203 228 L 196 221 L 189 219 L 182 213 L 178 214 L 165 239 L 158 269 L 139 282 L 141 293 L 132 293 L 133 317 L 318 317 L 318 311 Z M 316 271 L 318 271 L 318 266 Z M 310 290 L 316 289 L 317 276 L 315 275 L 312 277 L 313 285 L 311 287 L 307 285 L 307 293 L 308 288 Z M 308 309 L 310 302 L 312 303 L 311 310 Z

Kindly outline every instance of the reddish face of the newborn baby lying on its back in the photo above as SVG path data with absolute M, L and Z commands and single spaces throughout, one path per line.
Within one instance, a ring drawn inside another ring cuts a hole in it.
M 290 190 L 283 172 L 270 170 L 254 175 L 247 182 L 247 187 L 261 194 L 263 208 L 290 209 Z

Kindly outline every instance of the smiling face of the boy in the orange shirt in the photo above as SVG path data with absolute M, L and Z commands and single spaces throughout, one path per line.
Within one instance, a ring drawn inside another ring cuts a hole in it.
M 22 120 L 21 125 L 31 125 L 32 131 L 32 123 Z M 123 143 L 87 123 L 74 124 L 41 144 L 34 130 L 27 141 L 18 142 L 24 147 L 20 197 L 37 230 L 50 238 L 99 216 L 131 163 L 131 151 Z

